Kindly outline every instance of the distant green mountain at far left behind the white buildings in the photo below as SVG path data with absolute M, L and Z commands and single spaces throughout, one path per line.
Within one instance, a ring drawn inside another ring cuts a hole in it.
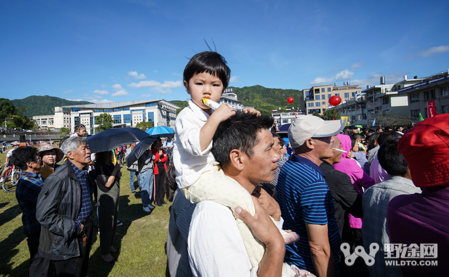
M 31 95 L 23 99 L 11 100 L 12 104 L 16 107 L 26 106 L 24 114 L 28 117 L 34 115 L 50 115 L 54 114 L 54 107 L 68 106 L 68 105 L 84 105 L 93 104 L 86 101 L 70 101 L 54 96 L 37 96 Z M 69 108 L 64 108 L 64 111 L 70 111 Z

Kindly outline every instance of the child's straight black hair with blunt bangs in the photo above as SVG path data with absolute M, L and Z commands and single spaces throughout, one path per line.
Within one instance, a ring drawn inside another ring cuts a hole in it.
M 230 69 L 226 64 L 225 58 L 217 52 L 205 51 L 198 53 L 187 63 L 184 69 L 184 81 L 189 83 L 195 74 L 206 72 L 220 78 L 223 88 L 226 89 L 230 78 Z

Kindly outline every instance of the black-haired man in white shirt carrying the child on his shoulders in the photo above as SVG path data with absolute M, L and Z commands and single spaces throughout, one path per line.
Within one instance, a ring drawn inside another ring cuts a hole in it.
M 279 205 L 260 188 L 260 192 L 253 193 L 258 183 L 273 180 L 277 168 L 279 154 L 272 147 L 274 140 L 268 129 L 272 121 L 266 116 L 237 113 L 219 125 L 212 147 L 226 177 L 252 194 L 254 217 L 240 207 L 234 211 L 266 245 L 259 266 L 250 263 L 232 211 L 215 201 L 204 200 L 197 203 L 189 230 L 193 276 L 281 276 L 285 245 L 278 230 L 282 225 Z

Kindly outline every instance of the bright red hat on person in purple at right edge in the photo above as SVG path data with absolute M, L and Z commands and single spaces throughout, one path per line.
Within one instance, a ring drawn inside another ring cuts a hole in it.
M 449 114 L 418 123 L 399 139 L 398 150 L 409 164 L 413 184 L 449 184 Z

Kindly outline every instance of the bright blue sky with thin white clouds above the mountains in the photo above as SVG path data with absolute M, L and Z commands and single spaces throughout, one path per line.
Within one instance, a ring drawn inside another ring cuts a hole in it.
M 233 87 L 387 84 L 449 69 L 449 1 L 1 1 L 0 97 L 186 100 L 215 42 Z

